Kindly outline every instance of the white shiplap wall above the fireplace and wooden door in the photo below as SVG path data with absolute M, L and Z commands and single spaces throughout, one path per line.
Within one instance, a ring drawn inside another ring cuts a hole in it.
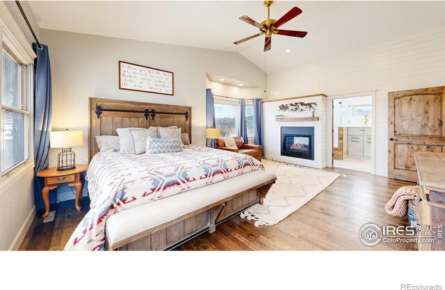
M 444 85 L 445 29 L 440 29 L 328 61 L 270 73 L 267 90 L 268 99 L 376 91 L 375 174 L 386 176 L 388 92 Z

